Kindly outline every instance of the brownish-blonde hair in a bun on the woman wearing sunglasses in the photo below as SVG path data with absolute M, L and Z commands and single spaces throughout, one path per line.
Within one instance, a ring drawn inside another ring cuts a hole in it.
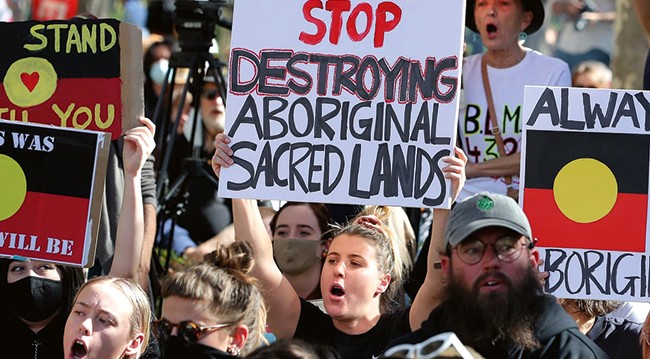
M 205 256 L 205 262 L 166 277 L 162 297 L 194 300 L 205 306 L 215 320 L 246 325 L 249 335 L 242 348 L 246 355 L 266 343 L 264 298 L 257 280 L 248 274 L 253 264 L 253 250 L 248 243 L 218 246 Z

